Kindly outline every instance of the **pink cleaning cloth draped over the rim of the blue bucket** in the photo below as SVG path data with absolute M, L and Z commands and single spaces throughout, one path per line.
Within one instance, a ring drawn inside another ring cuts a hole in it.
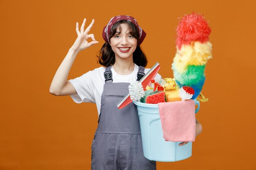
M 195 102 L 158 103 L 165 141 L 195 141 Z

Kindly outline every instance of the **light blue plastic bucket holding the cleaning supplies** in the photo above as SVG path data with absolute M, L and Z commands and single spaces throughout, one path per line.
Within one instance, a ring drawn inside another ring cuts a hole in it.
M 146 104 L 137 101 L 133 102 L 137 105 L 138 109 L 144 157 L 151 161 L 161 162 L 180 161 L 191 157 L 192 141 L 189 141 L 189 143 L 186 145 L 179 146 L 179 144 L 183 141 L 172 142 L 166 141 L 163 138 L 158 104 Z M 168 103 L 175 102 L 165 102 L 159 104 Z M 193 114 L 195 115 L 195 112 Z M 184 124 L 184 122 L 182 124 Z

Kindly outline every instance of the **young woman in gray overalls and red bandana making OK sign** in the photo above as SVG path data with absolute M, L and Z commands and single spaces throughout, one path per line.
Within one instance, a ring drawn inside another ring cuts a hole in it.
M 156 170 L 156 162 L 143 155 L 136 106 L 131 103 L 121 110 L 117 108 L 117 103 L 128 93 L 129 84 L 149 70 L 144 69 L 147 59 L 139 46 L 146 33 L 135 18 L 128 15 L 111 18 L 103 29 L 105 44 L 98 56 L 104 67 L 67 81 L 77 53 L 98 43 L 93 34 L 88 34 L 93 23 L 94 20 L 84 31 L 84 19 L 80 32 L 76 23 L 78 37 L 54 75 L 50 93 L 70 95 L 76 103 L 96 103 L 99 120 L 92 141 L 92 170 Z M 155 79 L 159 78 L 162 77 L 157 74 Z M 196 135 L 202 130 L 198 121 L 196 130 Z

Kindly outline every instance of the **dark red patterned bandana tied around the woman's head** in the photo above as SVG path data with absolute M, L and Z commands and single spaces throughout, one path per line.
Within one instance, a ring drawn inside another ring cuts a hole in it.
M 137 20 L 129 15 L 118 15 L 118 16 L 111 18 L 110 21 L 108 22 L 108 24 L 103 29 L 103 32 L 102 32 L 103 39 L 108 44 L 110 44 L 110 40 L 109 40 L 110 30 L 111 30 L 113 24 L 115 24 L 119 20 L 129 20 L 136 26 L 137 30 L 139 31 L 139 40 L 138 40 L 138 44 L 137 44 L 137 46 L 139 46 L 143 42 L 144 38 L 146 37 L 146 33 L 144 30 L 141 29 L 141 27 L 137 23 Z

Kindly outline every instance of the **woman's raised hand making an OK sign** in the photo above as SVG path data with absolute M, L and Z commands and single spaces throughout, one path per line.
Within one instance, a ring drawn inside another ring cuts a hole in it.
M 71 47 L 75 51 L 82 51 L 82 50 L 87 49 L 88 47 L 92 46 L 93 44 L 99 43 L 98 41 L 95 40 L 93 34 L 88 34 L 90 29 L 92 29 L 92 25 L 94 23 L 94 20 L 92 20 L 91 24 L 84 31 L 85 21 L 86 21 L 86 19 L 83 20 L 83 24 L 81 26 L 80 32 L 79 32 L 78 22 L 76 22 L 77 38 L 76 38 L 76 41 L 74 42 L 74 44 Z M 91 42 L 88 42 L 89 38 L 92 39 Z

